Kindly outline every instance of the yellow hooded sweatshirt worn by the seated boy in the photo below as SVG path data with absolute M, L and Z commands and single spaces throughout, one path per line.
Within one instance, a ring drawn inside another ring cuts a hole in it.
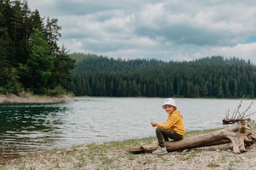
M 178 110 L 174 110 L 169 114 L 167 122 L 157 123 L 156 126 L 174 130 L 180 135 L 184 135 L 186 132 L 183 122 L 183 116 L 180 114 L 180 111 Z

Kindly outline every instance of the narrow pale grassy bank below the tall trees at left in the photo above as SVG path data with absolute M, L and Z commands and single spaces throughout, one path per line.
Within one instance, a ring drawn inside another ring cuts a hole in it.
M 76 101 L 71 95 L 46 96 L 21 92 L 19 95 L 0 95 L 0 103 L 61 103 Z

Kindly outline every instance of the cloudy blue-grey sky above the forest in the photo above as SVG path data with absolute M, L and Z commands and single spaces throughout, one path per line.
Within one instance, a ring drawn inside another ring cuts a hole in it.
M 256 63 L 255 0 L 28 0 L 58 18 L 71 52 L 193 60 L 222 55 Z

